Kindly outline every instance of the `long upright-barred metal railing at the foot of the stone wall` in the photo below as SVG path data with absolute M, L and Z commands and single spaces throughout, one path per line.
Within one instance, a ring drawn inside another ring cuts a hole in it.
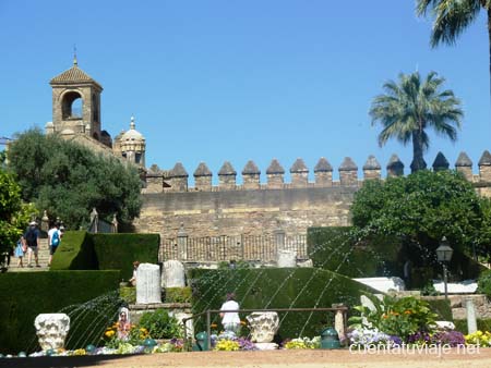
M 294 250 L 298 259 L 307 259 L 307 235 L 220 235 L 165 238 L 160 243 L 159 261 L 275 261 L 279 249 Z

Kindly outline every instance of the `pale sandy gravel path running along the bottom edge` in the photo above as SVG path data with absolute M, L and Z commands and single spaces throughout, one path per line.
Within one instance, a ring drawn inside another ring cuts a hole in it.
M 488 368 L 491 367 L 491 348 L 480 348 L 472 354 L 452 349 L 440 356 L 436 352 L 355 354 L 347 349 L 167 353 L 101 360 L 89 367 Z

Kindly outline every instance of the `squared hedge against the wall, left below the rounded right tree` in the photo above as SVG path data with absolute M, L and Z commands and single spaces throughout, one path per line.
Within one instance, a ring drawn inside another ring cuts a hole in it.
M 309 228 L 307 244 L 314 267 L 350 278 L 402 275 L 405 260 L 394 238 L 373 237 L 355 244 L 351 228 Z

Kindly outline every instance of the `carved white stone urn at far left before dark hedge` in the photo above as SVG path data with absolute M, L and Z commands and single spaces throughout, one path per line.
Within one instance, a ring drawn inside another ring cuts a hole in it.
M 70 317 L 65 314 L 41 314 L 34 320 L 41 349 L 64 348 L 64 339 L 70 330 Z

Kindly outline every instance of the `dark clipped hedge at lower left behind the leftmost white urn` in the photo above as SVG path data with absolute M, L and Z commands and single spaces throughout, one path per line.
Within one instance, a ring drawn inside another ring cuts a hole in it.
M 34 320 L 37 315 L 46 312 L 63 311 L 71 317 L 69 348 L 97 343 L 105 327 L 116 317 L 118 284 L 118 271 L 1 274 L 0 353 L 38 351 Z M 99 303 L 76 310 L 76 305 L 96 297 Z

